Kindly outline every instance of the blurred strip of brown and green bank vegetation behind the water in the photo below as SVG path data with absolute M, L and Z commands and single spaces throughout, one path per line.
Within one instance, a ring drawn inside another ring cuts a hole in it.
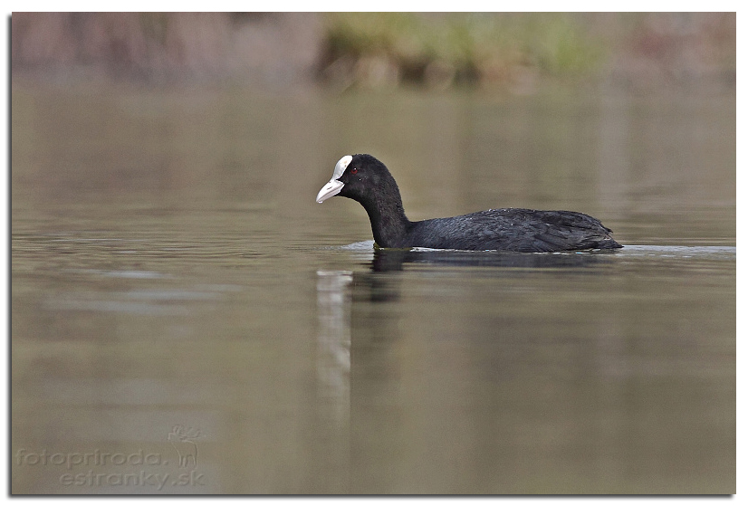
M 14 78 L 734 89 L 735 13 L 14 13 Z

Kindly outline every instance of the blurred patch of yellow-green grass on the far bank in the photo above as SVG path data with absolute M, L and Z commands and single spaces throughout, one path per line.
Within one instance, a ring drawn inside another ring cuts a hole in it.
M 446 85 L 511 83 L 527 72 L 566 79 L 595 72 L 604 55 L 575 14 L 335 13 L 326 22 L 325 62 L 349 62 L 350 81 L 365 81 L 355 63 L 372 59 L 398 81 L 438 71 Z

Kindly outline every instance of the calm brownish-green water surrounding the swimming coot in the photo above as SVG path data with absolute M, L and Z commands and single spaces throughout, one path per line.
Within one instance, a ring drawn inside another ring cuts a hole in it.
M 735 492 L 735 99 L 12 93 L 15 493 Z M 572 209 L 615 253 L 374 252 Z

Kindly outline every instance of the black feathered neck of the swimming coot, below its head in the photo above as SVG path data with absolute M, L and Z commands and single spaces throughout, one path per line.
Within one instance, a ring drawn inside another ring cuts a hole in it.
M 389 188 L 385 194 L 365 196 L 360 204 L 366 209 L 371 222 L 371 232 L 374 242 L 382 248 L 408 247 L 406 237 L 410 229 L 410 221 L 403 210 L 398 186 Z

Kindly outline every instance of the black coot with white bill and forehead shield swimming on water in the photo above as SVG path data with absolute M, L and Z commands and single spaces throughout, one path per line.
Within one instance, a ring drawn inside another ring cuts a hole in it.
M 489 209 L 411 222 L 403 210 L 395 178 L 371 155 L 340 158 L 317 202 L 336 195 L 364 206 L 374 241 L 383 248 L 560 252 L 622 247 L 598 219 L 571 211 Z

